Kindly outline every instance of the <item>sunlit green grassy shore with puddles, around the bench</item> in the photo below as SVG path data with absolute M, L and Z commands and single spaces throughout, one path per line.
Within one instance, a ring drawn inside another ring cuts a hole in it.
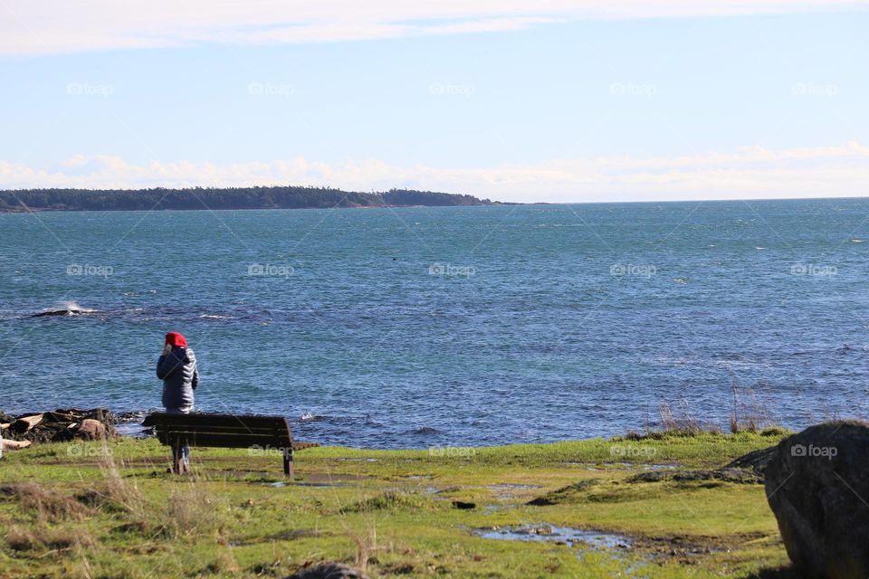
M 761 484 L 629 481 L 715 469 L 780 436 L 327 447 L 296 455 L 293 482 L 267 453 L 196 449 L 178 478 L 158 441 L 44 444 L 0 460 L 0 577 L 285 577 L 320 561 L 371 577 L 786 576 Z M 515 528 L 524 540 L 504 538 Z

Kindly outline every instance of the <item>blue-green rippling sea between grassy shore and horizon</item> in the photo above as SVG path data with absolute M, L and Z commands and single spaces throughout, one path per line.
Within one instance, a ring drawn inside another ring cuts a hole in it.
M 473 446 L 864 417 L 869 200 L 0 214 L 0 409 L 208 412 Z M 32 318 L 76 304 L 94 311 Z M 302 420 L 302 416 L 313 419 Z

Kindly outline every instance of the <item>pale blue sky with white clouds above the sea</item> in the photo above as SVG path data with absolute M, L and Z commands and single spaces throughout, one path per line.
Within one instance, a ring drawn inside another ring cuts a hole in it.
M 0 3 L 0 189 L 869 195 L 869 0 Z

